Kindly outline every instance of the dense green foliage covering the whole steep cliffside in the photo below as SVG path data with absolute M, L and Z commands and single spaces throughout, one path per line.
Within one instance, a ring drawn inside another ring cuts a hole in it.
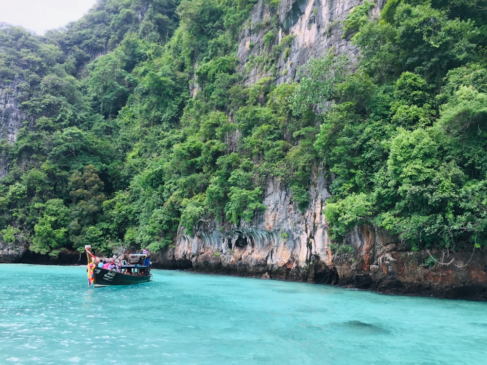
M 337 241 L 367 223 L 413 249 L 486 245 L 487 11 L 389 0 L 371 20 L 365 1 L 343 23 L 353 71 L 330 52 L 299 83 L 245 86 L 236 47 L 255 2 L 99 0 L 44 37 L 2 25 L 0 88 L 29 118 L 1 140 L 1 240 L 159 250 L 178 227 L 250 223 L 269 178 L 306 210 L 321 164 Z M 271 46 L 269 29 L 249 64 L 273 75 L 294 38 Z

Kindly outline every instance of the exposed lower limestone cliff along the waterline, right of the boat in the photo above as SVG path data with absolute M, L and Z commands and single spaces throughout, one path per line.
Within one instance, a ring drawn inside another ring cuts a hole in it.
M 329 195 L 321 171 L 313 177 L 310 194 L 310 208 L 300 213 L 289 191 L 271 180 L 262 216 L 228 232 L 213 222 L 201 226 L 196 236 L 180 232 L 172 248 L 153 257 L 156 267 L 487 299 L 487 255 L 473 248 L 459 253 L 411 252 L 387 233 L 364 226 L 348 237 L 353 252 L 334 255 L 322 214 Z

